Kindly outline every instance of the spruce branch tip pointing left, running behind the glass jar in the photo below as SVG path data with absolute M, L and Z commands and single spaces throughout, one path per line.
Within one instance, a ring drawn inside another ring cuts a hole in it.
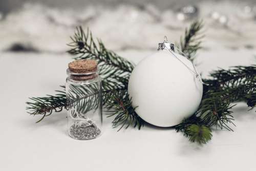
M 32 97 L 29 98 L 31 101 L 26 102 L 28 105 L 26 107 L 27 113 L 31 115 L 42 115 L 42 117 L 36 122 L 40 122 L 46 116 L 50 116 L 53 112 L 61 112 L 63 109 L 69 110 L 69 106 L 76 105 L 78 107 L 78 111 L 80 113 L 90 111 L 92 109 L 97 108 L 97 94 L 84 90 L 84 93 L 81 93 L 79 87 L 73 88 L 72 92 L 77 93 L 77 96 L 68 95 L 70 97 L 70 101 L 67 101 L 65 86 L 61 86 L 63 91 L 56 91 L 58 94 L 55 95 L 47 95 L 46 97 Z M 115 89 L 115 90 L 105 90 L 102 91 L 102 99 L 103 105 L 105 104 L 106 95 L 111 93 L 112 91 L 123 91 L 124 89 Z M 77 113 L 73 113 L 73 117 L 75 117 Z M 83 117 L 83 116 L 79 116 Z

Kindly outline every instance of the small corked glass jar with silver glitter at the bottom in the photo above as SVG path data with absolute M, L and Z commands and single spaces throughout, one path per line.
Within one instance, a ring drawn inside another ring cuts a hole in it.
M 95 60 L 76 60 L 67 69 L 66 94 L 69 135 L 78 140 L 102 133 L 101 78 Z

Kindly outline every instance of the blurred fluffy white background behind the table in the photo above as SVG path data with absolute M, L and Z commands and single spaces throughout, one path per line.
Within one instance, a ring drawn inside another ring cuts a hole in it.
M 1 1 L 2 51 L 65 52 L 76 26 L 89 27 L 115 51 L 155 50 L 179 41 L 195 19 L 205 23 L 204 50 L 253 50 L 256 3 L 248 1 Z

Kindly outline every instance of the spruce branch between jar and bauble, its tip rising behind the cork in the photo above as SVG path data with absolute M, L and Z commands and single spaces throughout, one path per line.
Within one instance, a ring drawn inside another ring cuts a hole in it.
M 103 78 L 102 89 L 103 92 L 108 92 L 103 95 L 103 103 L 107 109 L 112 110 L 110 116 L 116 115 L 112 122 L 113 127 L 121 125 L 121 129 L 126 124 L 127 128 L 134 123 L 134 126 L 140 129 L 143 121 L 136 114 L 127 93 L 124 93 L 127 92 L 128 81 L 134 69 L 133 63 L 106 49 L 101 40 L 97 39 L 95 42 L 89 29 L 84 33 L 83 29 L 78 27 L 71 39 L 69 46 L 72 49 L 69 53 L 77 55 L 75 59 L 98 61 L 99 74 Z

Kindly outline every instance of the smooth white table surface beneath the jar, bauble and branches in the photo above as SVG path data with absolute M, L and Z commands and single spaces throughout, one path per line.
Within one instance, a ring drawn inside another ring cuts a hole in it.
M 120 54 L 137 63 L 152 52 Z M 198 70 L 255 63 L 253 51 L 201 52 Z M 0 54 L 0 170 L 256 170 L 256 113 L 245 103 L 233 110 L 234 132 L 214 131 L 200 146 L 182 133 L 145 125 L 117 132 L 104 117 L 97 139 L 74 140 L 67 133 L 66 111 L 39 123 L 26 113 L 28 97 L 53 94 L 65 83 L 68 54 Z M 185 107 L 185 106 L 184 106 Z

